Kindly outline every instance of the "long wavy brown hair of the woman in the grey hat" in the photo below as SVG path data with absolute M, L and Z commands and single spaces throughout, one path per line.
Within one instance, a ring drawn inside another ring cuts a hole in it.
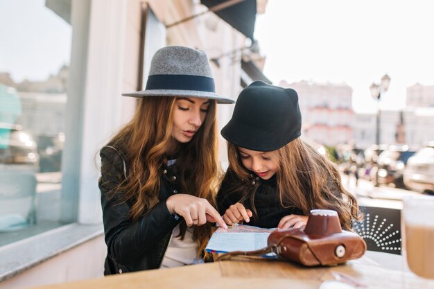
M 216 100 L 209 101 L 205 121 L 188 143 L 172 137 L 175 97 L 145 97 L 139 100 L 134 117 L 110 141 L 121 148 L 128 160 L 128 177 L 114 190 L 122 200 L 132 203 L 129 215 L 137 220 L 152 209 L 158 200 L 160 168 L 167 157 L 176 157 L 180 175 L 180 193 L 205 198 L 216 207 L 215 197 L 222 171 L 218 162 Z M 181 237 L 186 225 L 181 223 Z M 198 256 L 205 252 L 211 236 L 211 223 L 194 227 L 193 240 L 198 243 Z

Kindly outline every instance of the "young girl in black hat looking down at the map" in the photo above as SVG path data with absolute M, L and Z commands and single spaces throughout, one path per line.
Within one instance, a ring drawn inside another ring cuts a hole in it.
M 301 127 L 295 90 L 256 81 L 241 91 L 221 131 L 229 168 L 217 202 L 227 225 L 300 228 L 311 209 L 333 209 L 351 229 L 356 199 L 331 161 L 300 139 Z

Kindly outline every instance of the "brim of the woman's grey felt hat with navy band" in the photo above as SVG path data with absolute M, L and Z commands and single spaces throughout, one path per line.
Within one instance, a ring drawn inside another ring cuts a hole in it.
M 215 99 L 217 103 L 235 103 L 234 100 L 230 98 L 224 98 L 215 94 L 214 92 L 208 91 L 196 91 L 196 90 L 178 90 L 178 89 L 148 89 L 142 91 L 136 91 L 128 94 L 122 94 L 123 96 L 132 96 L 132 97 L 145 97 L 145 96 L 187 96 L 187 97 L 197 97 L 197 98 L 207 98 L 207 99 Z

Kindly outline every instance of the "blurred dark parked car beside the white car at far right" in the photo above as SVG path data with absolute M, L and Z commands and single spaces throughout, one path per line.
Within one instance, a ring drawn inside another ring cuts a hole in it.
M 397 188 L 405 188 L 403 172 L 408 159 L 415 154 L 408 146 L 390 146 L 384 150 L 377 160 L 376 184 L 394 184 Z

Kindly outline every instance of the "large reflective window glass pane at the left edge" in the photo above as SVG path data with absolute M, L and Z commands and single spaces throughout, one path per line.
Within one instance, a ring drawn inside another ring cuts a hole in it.
M 60 225 L 71 7 L 0 10 L 0 246 Z M 19 17 L 17 17 L 19 15 Z

